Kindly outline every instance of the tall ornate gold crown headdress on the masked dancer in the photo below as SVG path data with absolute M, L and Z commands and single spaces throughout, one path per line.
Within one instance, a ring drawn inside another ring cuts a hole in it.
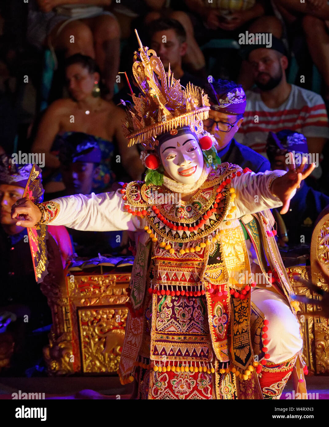
M 156 137 L 177 127 L 189 126 L 195 133 L 203 130 L 202 120 L 208 118 L 208 96 L 191 83 L 183 89 L 170 71 L 168 76 L 156 52 L 142 45 L 134 52 L 133 74 L 142 92 L 132 94 L 134 105 L 126 111 L 123 125 L 128 146 L 141 143 L 154 149 Z

